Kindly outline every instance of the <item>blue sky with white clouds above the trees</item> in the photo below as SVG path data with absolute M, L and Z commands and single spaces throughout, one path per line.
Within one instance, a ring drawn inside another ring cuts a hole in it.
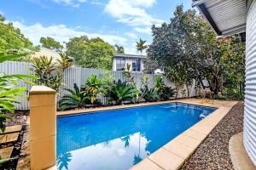
M 72 37 L 101 37 L 137 54 L 139 38 L 152 42 L 151 26 L 168 22 L 178 4 L 192 0 L 0 0 L 0 14 L 34 45 L 40 37 L 61 43 Z

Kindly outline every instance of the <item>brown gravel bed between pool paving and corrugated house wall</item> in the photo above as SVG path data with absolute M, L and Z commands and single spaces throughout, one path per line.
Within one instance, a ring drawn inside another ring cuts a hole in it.
M 234 134 L 242 132 L 243 109 L 243 102 L 236 104 L 180 169 L 233 169 L 229 141 Z

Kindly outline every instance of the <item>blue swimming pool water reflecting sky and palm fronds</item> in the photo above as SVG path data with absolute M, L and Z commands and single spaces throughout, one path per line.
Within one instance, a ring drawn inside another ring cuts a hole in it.
M 58 167 L 128 169 L 214 110 L 172 103 L 58 117 Z

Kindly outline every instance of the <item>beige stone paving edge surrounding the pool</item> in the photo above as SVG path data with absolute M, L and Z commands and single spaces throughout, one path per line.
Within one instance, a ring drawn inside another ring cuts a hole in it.
M 78 114 L 90 114 L 96 111 L 109 111 L 125 108 L 132 108 L 146 105 L 160 105 L 168 103 L 184 103 L 190 105 L 201 105 L 216 108 L 209 116 L 195 123 L 186 131 L 179 134 L 175 139 L 172 139 L 167 144 L 160 147 L 159 150 L 154 151 L 150 156 L 131 167 L 131 170 L 172 170 L 178 169 L 183 165 L 189 156 L 191 156 L 201 142 L 207 138 L 212 129 L 217 126 L 224 116 L 236 105 L 236 101 L 219 101 L 219 100 L 205 100 L 202 99 L 175 99 L 160 102 L 141 103 L 134 105 L 114 105 L 102 108 L 90 108 L 73 111 L 58 111 L 57 116 L 72 116 Z

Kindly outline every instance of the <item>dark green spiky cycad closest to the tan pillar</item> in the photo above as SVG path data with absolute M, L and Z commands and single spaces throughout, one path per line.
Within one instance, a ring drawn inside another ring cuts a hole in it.
M 61 111 L 84 108 L 85 105 L 89 103 L 89 98 L 81 93 L 76 83 L 73 84 L 73 88 L 74 90 L 65 88 L 68 94 L 64 95 L 59 101 L 59 109 Z

